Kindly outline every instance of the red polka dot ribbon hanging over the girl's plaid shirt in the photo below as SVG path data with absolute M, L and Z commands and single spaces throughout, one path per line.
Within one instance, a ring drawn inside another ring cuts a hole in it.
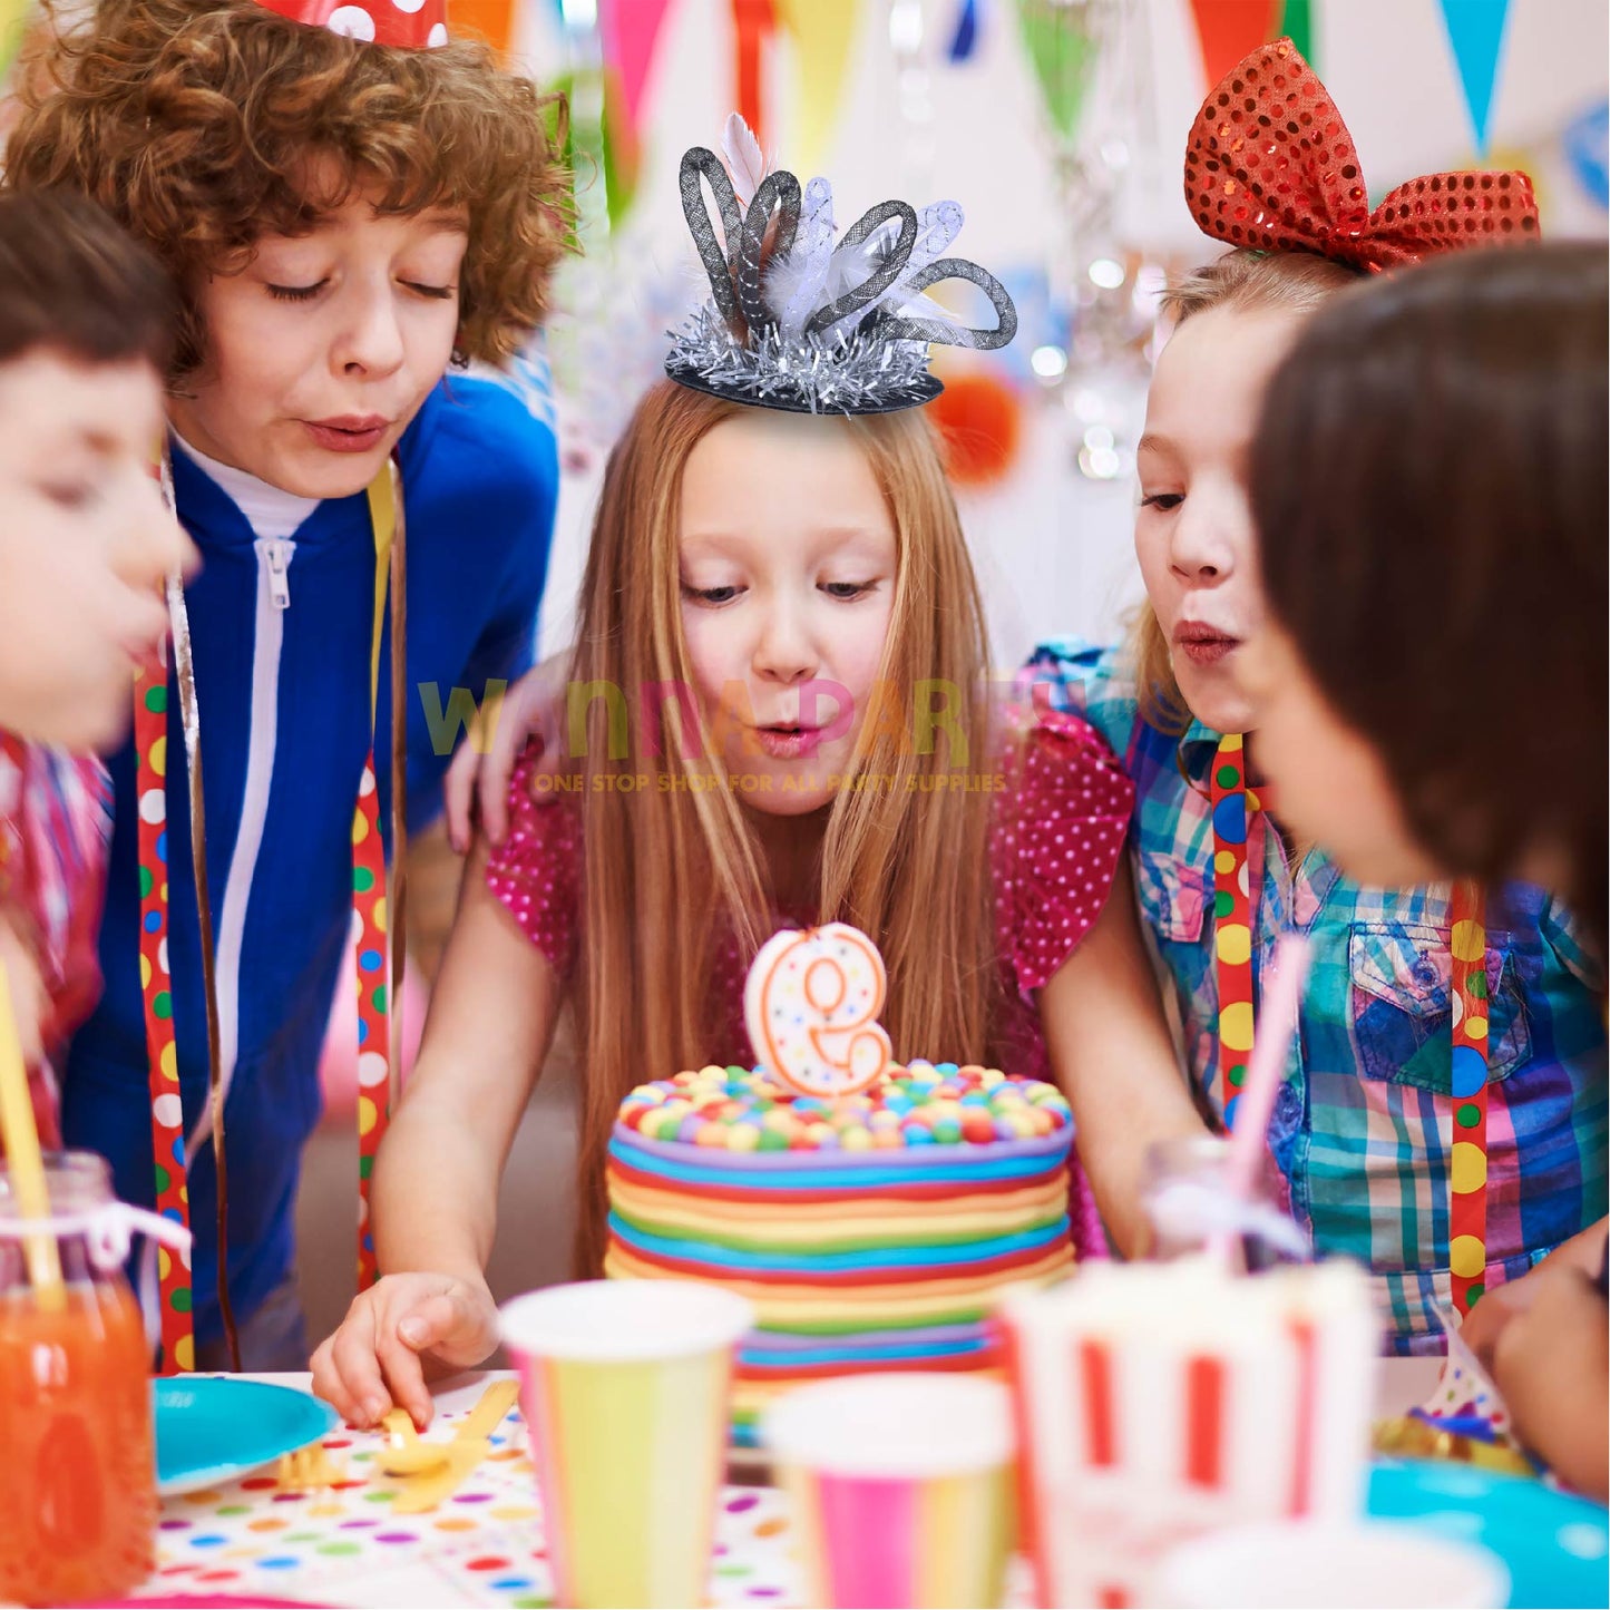
M 1253 1055 L 1253 898 L 1248 816 L 1257 795 L 1246 787 L 1246 745 L 1219 741 L 1212 763 L 1214 964 L 1219 977 L 1219 1106 L 1227 1129 Z M 1454 1306 L 1468 1314 L 1484 1290 L 1488 1262 L 1488 937 L 1481 889 L 1454 884 L 1452 947 L 1452 1151 L 1449 1159 L 1449 1267 Z

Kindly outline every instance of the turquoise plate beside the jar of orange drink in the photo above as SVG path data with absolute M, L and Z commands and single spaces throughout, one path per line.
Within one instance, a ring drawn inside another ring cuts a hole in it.
M 308 1393 L 233 1375 L 161 1380 L 153 1397 L 156 1491 L 163 1497 L 250 1475 L 341 1423 L 328 1404 Z

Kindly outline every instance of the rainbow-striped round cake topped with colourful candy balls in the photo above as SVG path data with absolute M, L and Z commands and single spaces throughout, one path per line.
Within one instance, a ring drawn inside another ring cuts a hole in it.
M 704 1067 L 625 1100 L 609 1148 L 617 1277 L 712 1280 L 755 1304 L 736 1422 L 866 1370 L 990 1370 L 1006 1286 L 1072 1262 L 1067 1103 L 953 1063 L 892 1064 L 860 1095 Z

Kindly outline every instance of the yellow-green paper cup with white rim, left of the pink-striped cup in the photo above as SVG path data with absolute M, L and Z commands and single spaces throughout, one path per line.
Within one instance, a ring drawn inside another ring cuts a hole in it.
M 559 1604 L 705 1602 L 733 1357 L 753 1322 L 742 1298 L 681 1280 L 591 1280 L 502 1307 Z

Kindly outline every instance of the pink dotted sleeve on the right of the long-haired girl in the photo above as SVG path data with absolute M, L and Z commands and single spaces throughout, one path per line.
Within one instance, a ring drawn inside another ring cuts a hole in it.
M 1024 1001 L 1079 948 L 1124 853 L 1135 787 L 1087 721 L 1040 710 L 992 845 L 1005 961 Z

